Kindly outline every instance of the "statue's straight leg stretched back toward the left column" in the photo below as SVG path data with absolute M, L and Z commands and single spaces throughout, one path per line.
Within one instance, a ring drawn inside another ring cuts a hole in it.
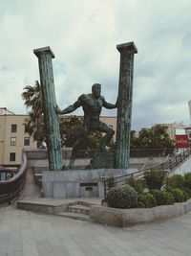
M 78 151 L 80 144 L 84 141 L 84 139 L 87 137 L 87 135 L 88 135 L 88 130 L 86 128 L 82 128 L 80 137 L 76 140 L 76 142 L 74 143 L 74 146 L 73 146 L 72 156 L 70 158 L 70 162 L 69 162 L 69 166 L 68 166 L 69 169 L 74 169 L 74 161 L 76 158 L 76 152 Z

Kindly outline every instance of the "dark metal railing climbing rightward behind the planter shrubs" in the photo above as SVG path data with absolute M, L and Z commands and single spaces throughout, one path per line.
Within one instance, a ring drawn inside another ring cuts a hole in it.
M 128 177 L 140 177 L 141 175 L 144 174 L 145 171 L 149 171 L 149 170 L 154 170 L 154 169 L 158 169 L 158 170 L 162 170 L 162 171 L 168 171 L 169 170 L 173 170 L 173 168 L 175 168 L 176 166 L 178 166 L 181 162 L 183 162 L 187 157 L 189 157 L 191 154 L 190 149 L 186 149 L 185 151 L 180 152 L 180 154 L 175 155 L 171 158 L 166 159 L 166 161 L 154 165 L 152 167 L 149 168 L 142 168 L 140 171 L 138 172 L 134 172 L 131 174 L 127 174 L 127 175 L 118 175 L 114 177 L 114 183 L 115 184 L 124 184 L 124 181 L 128 178 Z M 109 188 L 107 187 L 107 183 L 110 181 L 111 177 L 102 177 L 102 182 L 104 185 L 104 198 L 106 198 L 107 196 L 107 192 L 109 190 Z

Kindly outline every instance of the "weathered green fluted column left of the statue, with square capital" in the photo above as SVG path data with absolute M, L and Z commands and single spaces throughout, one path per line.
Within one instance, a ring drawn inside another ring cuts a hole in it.
M 62 170 L 63 164 L 58 116 L 54 109 L 56 105 L 52 63 L 54 55 L 50 47 L 34 49 L 33 53 L 38 58 L 39 65 L 49 168 L 50 171 L 59 171 Z

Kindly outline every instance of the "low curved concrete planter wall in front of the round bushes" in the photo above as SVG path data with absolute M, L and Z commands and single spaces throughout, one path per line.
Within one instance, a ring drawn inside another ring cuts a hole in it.
M 92 205 L 91 220 L 114 226 L 165 221 L 191 211 L 191 199 L 173 205 L 161 205 L 154 208 L 116 209 L 106 206 Z

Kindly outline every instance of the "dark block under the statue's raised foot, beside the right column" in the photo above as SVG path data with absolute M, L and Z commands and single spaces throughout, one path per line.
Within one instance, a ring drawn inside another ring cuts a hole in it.
M 114 152 L 96 152 L 91 162 L 93 169 L 114 168 L 115 153 Z

